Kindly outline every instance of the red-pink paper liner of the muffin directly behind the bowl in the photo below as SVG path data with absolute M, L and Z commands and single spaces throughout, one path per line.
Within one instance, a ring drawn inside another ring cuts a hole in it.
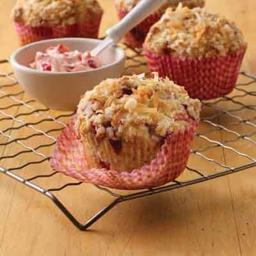
M 14 23 L 15 30 L 19 36 L 20 44 L 26 45 L 40 40 L 63 38 L 63 37 L 88 37 L 97 38 L 102 14 L 93 22 L 82 22 L 70 26 L 33 27 Z

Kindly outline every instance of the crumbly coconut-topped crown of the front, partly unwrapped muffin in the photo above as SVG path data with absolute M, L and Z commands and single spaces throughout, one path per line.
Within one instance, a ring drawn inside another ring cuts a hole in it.
M 200 106 L 183 87 L 157 73 L 106 79 L 81 99 L 77 131 L 113 140 L 131 141 L 136 134 L 159 140 L 198 120 Z

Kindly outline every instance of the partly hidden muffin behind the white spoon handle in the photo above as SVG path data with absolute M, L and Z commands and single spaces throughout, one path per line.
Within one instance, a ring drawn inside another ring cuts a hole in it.
M 116 0 L 115 5 L 118 18 L 120 20 L 123 19 L 125 15 L 127 15 L 127 13 L 129 13 L 132 8 L 139 3 L 139 1 L 140 0 Z M 188 8 L 195 8 L 196 6 L 203 7 L 205 4 L 204 0 L 168 0 L 166 2 L 167 3 L 163 4 L 163 6 L 157 12 L 149 15 L 147 19 L 143 20 L 124 36 L 124 41 L 126 44 L 130 45 L 131 47 L 142 47 L 148 30 L 161 18 L 166 8 L 170 7 L 175 9 L 180 2 L 184 4 L 184 6 L 188 6 Z

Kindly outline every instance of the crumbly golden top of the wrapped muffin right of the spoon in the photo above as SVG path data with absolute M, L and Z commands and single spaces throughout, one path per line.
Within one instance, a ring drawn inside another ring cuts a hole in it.
M 179 4 L 150 28 L 145 47 L 157 55 L 168 52 L 179 56 L 212 57 L 236 52 L 246 46 L 236 24 L 205 8 L 189 9 Z

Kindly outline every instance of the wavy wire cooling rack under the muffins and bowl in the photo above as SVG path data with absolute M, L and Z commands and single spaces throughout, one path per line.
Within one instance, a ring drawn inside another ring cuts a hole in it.
M 121 46 L 127 52 L 126 74 L 148 72 L 142 51 Z M 0 71 L 0 172 L 47 196 L 80 230 L 86 230 L 121 202 L 256 166 L 256 76 L 241 72 L 234 92 L 202 102 L 200 126 L 188 166 L 178 180 L 128 194 L 95 186 L 113 196 L 113 201 L 82 224 L 62 204 L 58 195 L 71 186 L 79 189 L 93 185 L 82 185 L 82 182 L 51 170 L 49 164 L 56 138 L 74 113 L 51 111 L 26 95 L 13 77 L 8 60 L 0 61 Z M 54 177 L 58 175 L 61 177 L 56 182 Z

